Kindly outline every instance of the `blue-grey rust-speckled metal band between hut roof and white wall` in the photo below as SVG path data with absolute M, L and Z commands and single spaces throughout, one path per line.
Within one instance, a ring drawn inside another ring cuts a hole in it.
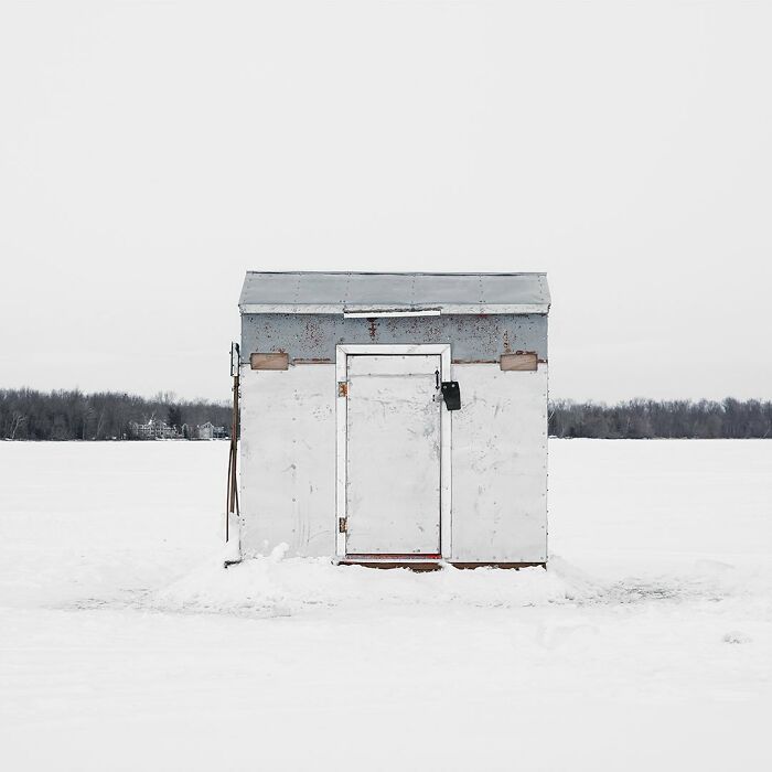
M 454 362 L 498 362 L 502 354 L 536 352 L 547 361 L 547 315 L 448 314 L 345 319 L 336 314 L 255 313 L 242 317 L 242 357 L 286 352 L 291 363 L 334 362 L 346 343 L 450 343 Z

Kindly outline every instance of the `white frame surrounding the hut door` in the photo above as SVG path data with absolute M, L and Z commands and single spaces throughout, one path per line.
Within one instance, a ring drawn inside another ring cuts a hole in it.
M 369 354 L 371 356 L 439 356 L 442 380 L 450 380 L 450 344 L 344 344 L 335 346 L 335 379 L 337 380 L 335 399 L 335 558 L 337 561 L 346 559 L 346 533 L 339 527 L 340 523 L 346 523 L 346 430 L 347 430 L 347 378 L 349 355 Z M 346 387 L 341 388 L 341 384 Z M 443 560 L 451 556 L 451 428 L 452 414 L 444 405 L 440 406 L 440 555 Z M 417 555 L 404 557 L 384 556 L 387 562 L 410 562 L 419 560 L 426 562 L 426 557 Z M 368 558 L 368 562 L 377 562 L 378 558 Z

